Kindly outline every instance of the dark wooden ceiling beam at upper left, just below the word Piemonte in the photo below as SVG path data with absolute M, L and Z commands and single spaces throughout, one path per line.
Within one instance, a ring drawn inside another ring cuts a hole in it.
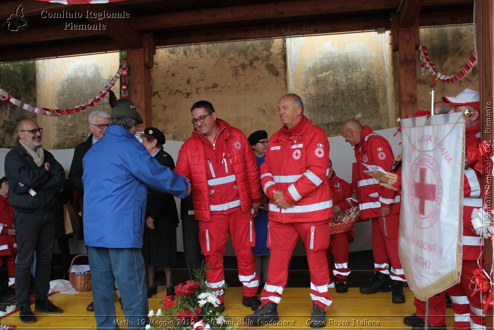
M 86 37 L 106 34 L 104 30 L 64 30 L 63 25 L 53 25 L 35 29 L 26 29 L 15 33 L 5 33 L 0 38 L 0 46 L 24 44 L 49 40 Z

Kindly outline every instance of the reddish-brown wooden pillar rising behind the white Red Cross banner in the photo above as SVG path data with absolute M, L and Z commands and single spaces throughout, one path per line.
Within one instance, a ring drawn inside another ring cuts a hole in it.
M 393 25 L 393 22 L 391 23 Z M 393 29 L 392 29 L 393 30 Z M 413 116 L 417 105 L 417 63 L 415 27 L 398 28 L 398 104 L 400 117 Z M 396 36 L 393 37 L 394 40 Z

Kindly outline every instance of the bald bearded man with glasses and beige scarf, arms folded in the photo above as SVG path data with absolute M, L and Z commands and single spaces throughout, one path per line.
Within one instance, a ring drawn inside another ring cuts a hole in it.
M 20 121 L 16 127 L 19 143 L 5 156 L 9 203 L 15 207 L 15 294 L 20 308 L 19 319 L 23 323 L 36 322 L 29 298 L 30 269 L 35 251 L 35 312 L 62 313 L 61 308 L 48 300 L 47 294 L 55 240 L 53 207 L 65 185 L 65 172 L 55 157 L 41 146 L 42 131 L 32 120 Z

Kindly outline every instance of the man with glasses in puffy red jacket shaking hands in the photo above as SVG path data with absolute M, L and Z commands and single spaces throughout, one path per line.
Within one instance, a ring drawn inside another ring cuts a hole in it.
M 261 201 L 257 162 L 244 133 L 217 118 L 210 102 L 194 103 L 191 113 L 194 131 L 182 145 L 173 171 L 192 184 L 199 243 L 209 266 L 206 283 L 223 304 L 223 254 L 230 234 L 243 284 L 242 303 L 255 311 L 261 304 L 251 248 L 251 207 L 257 212 Z

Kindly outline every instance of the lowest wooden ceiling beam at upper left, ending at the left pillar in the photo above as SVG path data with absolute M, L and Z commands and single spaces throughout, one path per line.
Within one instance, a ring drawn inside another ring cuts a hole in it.
M 124 45 L 121 45 L 112 39 L 43 47 L 2 49 L 0 50 L 0 61 L 22 61 L 38 58 L 100 53 L 123 49 L 125 49 Z

